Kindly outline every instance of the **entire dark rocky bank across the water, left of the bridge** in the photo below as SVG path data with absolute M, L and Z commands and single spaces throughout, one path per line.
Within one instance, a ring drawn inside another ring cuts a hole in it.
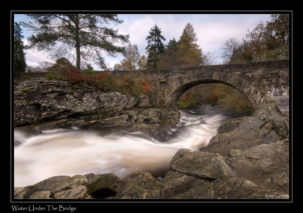
M 25 89 L 28 89 L 25 91 Z M 159 141 L 166 140 L 180 113 L 164 106 L 148 107 L 146 97 L 127 97 L 118 92 L 101 93 L 91 87 L 73 87 L 58 79 L 33 78 L 21 82 L 14 92 L 15 127 L 27 134 L 42 134 L 56 128 L 141 131 Z M 18 143 L 18 142 L 16 142 Z

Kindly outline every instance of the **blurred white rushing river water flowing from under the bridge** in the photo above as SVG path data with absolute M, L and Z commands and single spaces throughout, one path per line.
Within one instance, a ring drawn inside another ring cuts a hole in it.
M 166 142 L 139 132 L 100 136 L 97 130 L 81 129 L 48 130 L 26 137 L 15 128 L 15 141 L 21 145 L 14 148 L 14 186 L 33 185 L 57 175 L 88 173 L 115 173 L 123 180 L 136 170 L 161 179 L 179 149 L 206 147 L 225 120 L 245 116 L 210 105 L 180 113 L 172 139 Z

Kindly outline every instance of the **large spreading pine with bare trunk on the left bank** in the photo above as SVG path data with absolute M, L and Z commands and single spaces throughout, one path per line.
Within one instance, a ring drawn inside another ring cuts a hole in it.
M 36 51 L 55 51 L 55 58 L 75 51 L 76 68 L 81 63 L 93 62 L 99 68 L 106 69 L 103 57 L 125 54 L 125 47 L 116 45 L 128 42 L 129 35 L 118 34 L 118 30 L 105 25 L 121 24 L 117 14 L 27 14 L 32 22 L 20 22 L 34 34 L 28 38 L 27 49 Z

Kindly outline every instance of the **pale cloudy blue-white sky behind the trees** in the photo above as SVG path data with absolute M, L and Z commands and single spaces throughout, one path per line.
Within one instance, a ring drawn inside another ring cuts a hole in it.
M 28 22 L 28 17 L 24 14 L 15 14 L 14 12 L 13 21 L 25 21 Z M 87 12 L 85 12 L 87 13 Z M 122 19 L 123 23 L 114 26 L 114 29 L 118 29 L 119 34 L 129 34 L 129 41 L 131 44 L 136 44 L 140 55 L 147 55 L 145 53 L 145 47 L 147 46 L 146 37 L 149 35 L 149 31 L 156 24 L 161 29 L 162 35 L 166 41 L 162 41 L 163 44 L 167 44 L 170 39 L 175 38 L 177 41 L 180 38 L 185 25 L 190 22 L 195 32 L 197 33 L 198 41 L 203 53 L 213 52 L 214 56 L 218 56 L 216 64 L 221 64 L 221 53 L 220 49 L 224 42 L 232 37 L 237 40 L 241 39 L 247 34 L 247 30 L 252 30 L 255 25 L 260 21 L 266 22 L 270 20 L 271 13 L 256 13 L 256 14 L 224 14 L 224 12 L 214 12 L 214 14 L 173 14 L 173 12 L 157 12 L 157 14 L 128 14 L 128 12 L 116 12 L 118 19 Z M 148 12 L 151 13 L 151 12 Z M 163 14 L 161 14 L 163 13 Z M 186 12 L 190 13 L 190 12 Z M 215 14 L 220 13 L 220 14 Z M 251 13 L 251 12 L 250 12 Z M 32 35 L 31 31 L 22 27 L 24 44 L 27 44 L 27 37 Z M 28 66 L 36 67 L 38 62 L 54 61 L 47 58 L 48 53 L 40 51 L 38 53 L 32 50 L 25 50 L 26 63 Z M 108 57 L 104 55 L 105 60 L 109 63 L 109 66 L 114 66 L 115 63 L 119 63 L 123 56 Z M 97 66 L 93 66 L 94 70 L 100 70 Z

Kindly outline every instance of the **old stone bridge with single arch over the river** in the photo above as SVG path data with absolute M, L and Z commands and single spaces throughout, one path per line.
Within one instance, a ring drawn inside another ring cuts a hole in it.
M 155 85 L 149 94 L 151 105 L 175 107 L 186 90 L 201 83 L 232 86 L 250 100 L 255 110 L 268 98 L 289 95 L 289 60 L 115 73 L 150 79 Z

